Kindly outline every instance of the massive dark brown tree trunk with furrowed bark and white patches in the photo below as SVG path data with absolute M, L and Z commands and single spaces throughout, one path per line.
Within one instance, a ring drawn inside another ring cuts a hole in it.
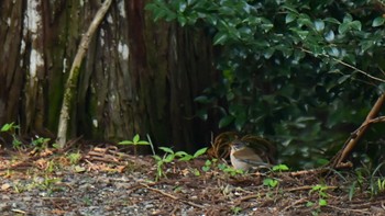
M 216 79 L 202 32 L 154 23 L 146 1 L 117 0 L 91 38 L 80 67 L 68 138 L 122 140 L 195 149 L 213 128 L 194 117 L 194 98 Z M 64 87 L 97 0 L 0 3 L 0 125 L 22 134 L 57 132 Z M 52 134 L 52 135 L 51 135 Z

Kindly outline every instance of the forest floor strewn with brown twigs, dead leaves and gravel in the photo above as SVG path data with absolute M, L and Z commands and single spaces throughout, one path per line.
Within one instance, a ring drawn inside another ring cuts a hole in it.
M 107 145 L 0 148 L 0 215 L 385 215 L 384 191 L 374 195 L 349 170 L 226 167 L 205 156 L 162 163 Z

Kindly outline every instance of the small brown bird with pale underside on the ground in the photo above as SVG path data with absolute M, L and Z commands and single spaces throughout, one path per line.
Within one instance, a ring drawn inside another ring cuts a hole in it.
M 231 145 L 230 161 L 235 169 L 249 171 L 252 168 L 271 168 L 272 164 L 264 162 L 261 155 L 252 147 L 241 140 L 235 140 Z

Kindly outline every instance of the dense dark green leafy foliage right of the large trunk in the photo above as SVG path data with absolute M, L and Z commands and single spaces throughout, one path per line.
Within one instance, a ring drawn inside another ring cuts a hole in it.
M 196 99 L 206 104 L 198 115 L 216 107 L 219 127 L 274 137 L 287 164 L 330 157 L 385 87 L 380 0 L 154 0 L 147 9 L 205 30 L 219 50 L 222 79 Z

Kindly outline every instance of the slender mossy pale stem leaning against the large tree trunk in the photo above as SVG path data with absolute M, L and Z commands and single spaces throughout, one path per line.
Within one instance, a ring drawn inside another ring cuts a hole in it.
M 111 5 L 111 2 L 112 0 L 106 0 L 102 7 L 100 7 L 97 14 L 95 15 L 91 24 L 88 27 L 87 33 L 81 37 L 80 45 L 78 47 L 73 66 L 70 68 L 69 77 L 65 86 L 65 93 L 63 96 L 63 104 L 62 104 L 61 117 L 59 117 L 58 129 L 57 129 L 57 144 L 59 145 L 61 148 L 65 146 L 67 140 L 69 111 L 72 109 L 70 104 L 75 94 L 76 84 L 78 82 L 79 68 L 81 66 L 81 61 L 86 55 L 91 37 L 94 36 L 94 33 L 96 32 L 99 24 L 103 20 L 108 9 Z

